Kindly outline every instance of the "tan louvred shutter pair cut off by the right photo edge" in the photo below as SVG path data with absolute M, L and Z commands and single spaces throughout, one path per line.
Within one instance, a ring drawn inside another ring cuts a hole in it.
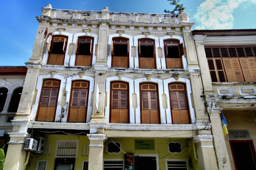
M 256 81 L 255 58 L 239 58 L 246 82 Z

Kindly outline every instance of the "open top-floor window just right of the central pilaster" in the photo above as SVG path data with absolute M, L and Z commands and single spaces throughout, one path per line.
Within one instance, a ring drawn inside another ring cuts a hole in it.
M 113 38 L 111 47 L 112 67 L 128 68 L 129 41 L 126 38 Z

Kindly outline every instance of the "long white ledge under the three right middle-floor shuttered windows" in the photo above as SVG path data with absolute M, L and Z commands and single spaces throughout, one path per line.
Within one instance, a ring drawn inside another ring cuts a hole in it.
M 124 124 L 107 123 L 106 130 L 185 131 L 204 129 L 206 124 Z M 211 125 L 209 126 L 211 128 Z

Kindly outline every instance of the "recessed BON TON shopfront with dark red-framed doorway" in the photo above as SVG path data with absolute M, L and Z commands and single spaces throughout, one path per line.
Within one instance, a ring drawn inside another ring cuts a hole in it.
M 231 169 L 256 169 L 256 121 L 252 110 L 223 110 L 229 134 L 225 136 Z

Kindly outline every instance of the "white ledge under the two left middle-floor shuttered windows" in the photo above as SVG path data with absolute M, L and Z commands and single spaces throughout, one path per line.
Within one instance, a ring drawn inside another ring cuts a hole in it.
M 89 123 L 67 123 L 67 122 L 45 122 L 33 121 L 29 122 L 28 128 L 48 128 L 48 129 L 75 129 L 90 130 Z

